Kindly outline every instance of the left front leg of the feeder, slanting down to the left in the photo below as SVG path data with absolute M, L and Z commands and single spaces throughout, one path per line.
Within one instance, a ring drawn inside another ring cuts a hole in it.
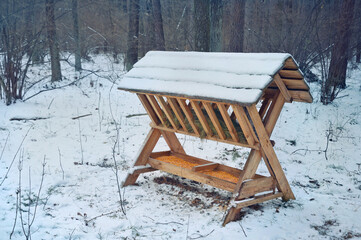
M 160 130 L 155 128 L 150 129 L 147 137 L 145 138 L 141 151 L 139 152 L 137 160 L 134 163 L 134 166 L 142 166 L 147 164 L 148 158 L 152 153 L 155 145 L 157 144 L 160 135 L 161 135 Z M 135 184 L 139 174 L 141 173 L 142 172 L 136 170 L 132 174 L 128 174 L 123 184 L 123 187 Z

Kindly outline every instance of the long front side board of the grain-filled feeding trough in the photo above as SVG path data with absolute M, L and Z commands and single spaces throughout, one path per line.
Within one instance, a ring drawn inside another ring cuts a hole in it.
M 163 162 L 157 159 L 149 158 L 148 163 L 151 167 L 178 175 L 180 177 L 184 177 L 187 179 L 191 179 L 193 181 L 205 183 L 211 185 L 216 188 L 220 188 L 226 191 L 233 192 L 235 183 L 225 181 L 223 179 L 215 178 L 209 175 L 206 175 L 202 172 L 194 172 L 192 169 L 182 168 L 167 162 Z

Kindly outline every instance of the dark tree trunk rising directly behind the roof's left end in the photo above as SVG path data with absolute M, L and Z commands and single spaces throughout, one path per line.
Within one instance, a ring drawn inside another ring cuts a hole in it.
M 154 17 L 154 32 L 157 50 L 165 50 L 165 40 L 163 31 L 162 7 L 160 0 L 152 0 L 153 17 Z

